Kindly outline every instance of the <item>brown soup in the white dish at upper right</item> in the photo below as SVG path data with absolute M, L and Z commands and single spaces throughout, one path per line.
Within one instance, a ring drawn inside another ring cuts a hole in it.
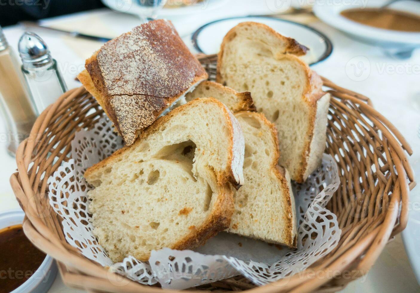
M 367 26 L 392 31 L 420 32 L 420 16 L 389 8 L 352 8 L 341 11 L 345 18 Z

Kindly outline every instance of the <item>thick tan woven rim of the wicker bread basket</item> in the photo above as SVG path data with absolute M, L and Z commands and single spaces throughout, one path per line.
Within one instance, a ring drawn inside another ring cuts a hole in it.
M 349 268 L 352 264 L 355 264 L 355 269 L 362 272 L 363 275 L 367 273 L 368 269 L 378 258 L 388 239 L 395 234 L 400 233 L 407 225 L 408 193 L 409 190 L 415 186 L 414 173 L 407 160 L 407 154 L 411 155 L 412 149 L 402 134 L 373 108 L 369 98 L 337 86 L 326 78 L 323 78 L 323 84 L 330 88 L 327 92 L 333 95 L 334 98 L 331 99 L 333 100 L 331 103 L 336 103 L 337 105 L 334 104 L 335 107 L 340 106 L 338 104 L 339 99 L 350 102 L 360 107 L 360 109 L 364 111 L 363 114 L 371 121 L 375 122 L 375 129 L 381 131 L 387 141 L 386 145 L 378 147 L 382 147 L 386 155 L 389 155 L 389 158 L 392 159 L 392 162 L 394 163 L 394 168 L 390 168 L 390 170 L 393 169 L 394 171 L 390 171 L 392 174 L 388 174 L 389 176 L 396 176 L 393 192 L 388 203 L 394 204 L 395 206 L 401 204 L 400 214 L 398 214 L 397 209 L 386 210 L 385 213 L 382 213 L 375 218 L 374 222 L 378 222 L 377 226 L 372 228 L 372 230 L 364 235 L 363 238 L 356 241 L 356 243 L 351 243 L 351 241 L 341 243 L 338 249 L 343 249 L 344 251 L 342 251 L 340 256 L 336 259 L 327 259 L 329 261 L 328 263 L 324 263 L 323 259 L 310 268 L 314 272 L 331 270 L 336 272 L 336 276 L 338 277 L 341 275 L 341 272 Z M 26 214 L 23 224 L 24 232 L 35 246 L 58 260 L 60 273 L 67 285 L 88 289 L 93 292 L 98 290 L 110 292 L 134 292 L 139 290 L 142 292 L 173 292 L 173 290 L 142 285 L 128 279 L 126 279 L 127 284 L 123 288 L 114 285 L 113 280 L 114 278 L 117 278 L 114 273 L 108 272 L 107 269 L 101 267 L 99 264 L 81 256 L 77 249 L 70 246 L 66 241 L 63 241 L 63 235 L 59 235 L 61 229 L 60 221 L 54 219 L 51 215 L 46 217 L 42 215 L 42 209 L 40 210 L 39 206 L 40 199 L 38 199 L 38 197 L 40 195 L 38 193 L 38 188 L 40 188 L 40 190 L 45 190 L 46 180 L 43 181 L 41 179 L 42 174 L 39 174 L 39 172 L 33 172 L 31 163 L 37 163 L 42 169 L 45 169 L 46 172 L 48 171 L 49 174 L 52 174 L 53 170 L 58 167 L 57 164 L 61 164 L 63 160 L 66 160 L 66 155 L 60 153 L 59 147 L 47 150 L 47 152 L 51 153 L 49 158 L 43 153 L 45 150 L 43 150 L 43 152 L 37 152 L 35 155 L 33 155 L 33 153 L 38 148 L 42 149 L 43 144 L 46 144 L 43 137 L 45 137 L 47 131 L 50 131 L 50 128 L 55 125 L 53 122 L 57 123 L 60 119 L 64 119 L 63 114 L 73 105 L 72 103 L 77 97 L 92 99 L 83 86 L 71 89 L 64 93 L 53 105 L 50 105 L 41 113 L 32 128 L 29 138 L 23 141 L 18 147 L 16 153 L 18 172 L 11 176 L 11 186 Z M 94 102 L 95 101 L 93 100 L 92 103 Z M 60 147 L 65 147 L 66 150 L 68 150 L 69 141 L 71 141 L 71 133 L 74 135 L 74 130 L 73 132 L 63 134 L 63 137 L 60 137 L 60 144 L 62 144 Z M 45 158 L 42 156 L 45 156 Z M 58 162 L 53 162 L 55 157 L 59 158 Z M 42 162 L 38 162 L 38 160 Z M 47 165 L 48 167 L 45 167 Z M 45 175 L 45 177 L 49 177 L 49 175 Z M 33 186 L 34 182 L 39 182 L 39 184 L 42 183 L 42 185 L 35 185 L 35 190 Z M 398 224 L 396 224 L 397 221 Z M 363 224 L 363 222 L 365 223 Z M 356 231 L 354 233 L 361 233 L 366 226 L 366 222 L 367 220 L 365 219 L 349 228 L 346 226 L 346 229 L 342 231 L 342 237 L 343 235 L 346 235 L 346 233 L 353 233 L 354 231 Z M 363 258 L 361 258 L 362 255 Z M 299 274 L 287 278 L 287 280 L 283 279 L 265 286 L 250 288 L 249 292 L 283 292 L 287 290 L 309 291 L 315 290 L 321 285 L 325 286 L 331 281 L 327 277 L 311 279 L 306 276 L 302 279 L 302 277 L 299 278 L 297 275 Z M 338 278 L 338 281 L 330 285 L 329 288 L 332 291 L 335 289 L 338 290 L 343 288 L 346 283 L 348 283 L 348 280 Z M 239 289 L 246 289 L 247 287 L 243 285 L 244 287 L 241 288 L 241 284 L 236 285 L 239 286 L 237 287 Z M 191 290 L 189 290 L 189 292 L 191 292 Z M 197 290 L 197 292 L 200 292 L 200 290 Z

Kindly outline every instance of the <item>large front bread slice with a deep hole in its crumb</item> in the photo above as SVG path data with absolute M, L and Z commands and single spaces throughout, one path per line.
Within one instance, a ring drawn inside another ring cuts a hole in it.
M 243 160 L 244 138 L 225 105 L 180 106 L 86 170 L 93 234 L 114 262 L 202 245 L 229 227 Z

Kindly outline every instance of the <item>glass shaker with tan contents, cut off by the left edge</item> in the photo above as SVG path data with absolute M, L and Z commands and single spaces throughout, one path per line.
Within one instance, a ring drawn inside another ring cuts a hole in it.
M 19 67 L 18 58 L 0 27 L 0 110 L 7 128 L 0 139 L 8 143 L 7 150 L 12 156 L 21 141 L 29 136 L 37 119 L 31 93 Z

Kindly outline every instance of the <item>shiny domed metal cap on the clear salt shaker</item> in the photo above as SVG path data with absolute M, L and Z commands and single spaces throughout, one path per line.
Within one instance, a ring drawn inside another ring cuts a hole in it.
M 47 44 L 33 32 L 25 32 L 21 36 L 18 51 L 24 68 L 42 67 L 53 62 Z

